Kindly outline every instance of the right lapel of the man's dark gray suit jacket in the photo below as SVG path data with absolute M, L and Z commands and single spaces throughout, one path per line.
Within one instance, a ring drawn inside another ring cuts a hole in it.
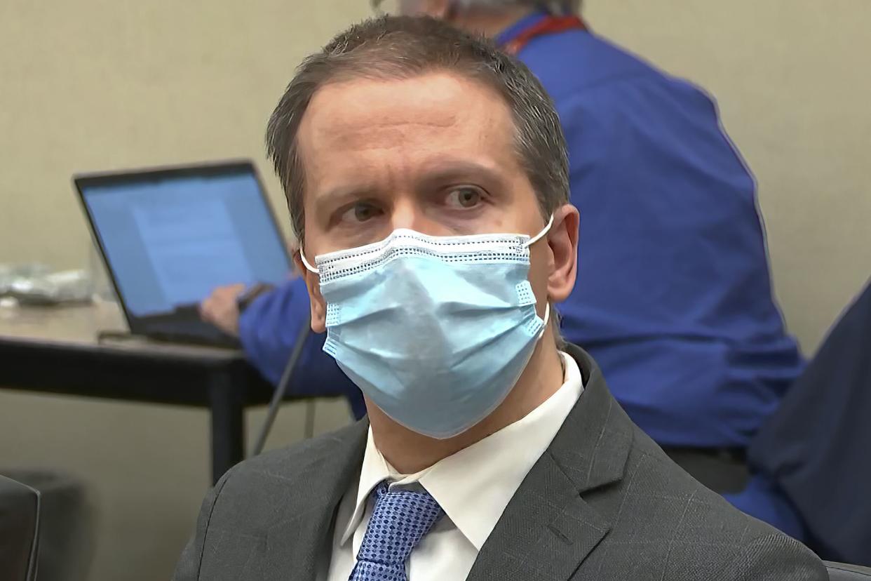
M 631 424 L 591 357 L 570 346 L 584 394 L 483 545 L 469 581 L 565 581 L 611 529 L 584 500 L 624 475 Z

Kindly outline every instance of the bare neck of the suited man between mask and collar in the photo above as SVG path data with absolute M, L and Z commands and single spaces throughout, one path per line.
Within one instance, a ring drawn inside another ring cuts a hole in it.
M 458 436 L 438 440 L 405 428 L 366 399 L 375 446 L 401 474 L 415 474 L 443 458 L 517 422 L 547 401 L 563 385 L 564 374 L 556 341 L 548 331 L 538 342 L 523 375 L 509 395 L 490 415 Z

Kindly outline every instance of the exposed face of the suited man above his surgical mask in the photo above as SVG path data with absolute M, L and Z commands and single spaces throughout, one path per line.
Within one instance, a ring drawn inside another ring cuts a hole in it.
M 517 158 L 511 112 L 476 81 L 432 73 L 328 84 L 312 99 L 298 139 L 310 262 L 397 228 L 534 235 L 545 224 Z M 530 281 L 544 313 L 553 257 L 546 240 L 531 253 Z M 307 282 L 313 328 L 323 331 L 316 275 Z

